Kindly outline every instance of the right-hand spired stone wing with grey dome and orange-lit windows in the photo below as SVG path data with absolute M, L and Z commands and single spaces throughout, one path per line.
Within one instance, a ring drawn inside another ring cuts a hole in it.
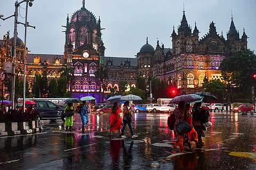
M 222 33 L 216 31 L 214 22 L 210 23 L 209 32 L 201 39 L 199 30 L 195 27 L 192 32 L 189 27 L 185 11 L 178 27 L 178 34 L 173 27 L 172 49 L 159 46 L 157 40 L 154 49 L 148 44 L 137 53 L 138 75 L 148 80 L 155 76 L 161 80 L 170 80 L 177 86 L 179 94 L 191 94 L 203 91 L 204 79 L 221 79 L 220 63 L 231 52 L 247 49 L 245 31 L 242 38 L 235 28 L 233 18 L 227 33 L 227 40 Z

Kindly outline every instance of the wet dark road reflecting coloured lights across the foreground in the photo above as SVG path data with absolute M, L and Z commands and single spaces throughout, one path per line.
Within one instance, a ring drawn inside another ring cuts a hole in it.
M 168 114 L 134 114 L 138 138 L 118 132 L 110 138 L 109 114 L 90 115 L 81 131 L 76 115 L 73 132 L 63 122 L 42 121 L 36 134 L 0 138 L 1 169 L 255 169 L 256 115 L 212 112 L 212 128 L 205 131 L 205 146 L 181 154 L 172 149 L 173 131 Z

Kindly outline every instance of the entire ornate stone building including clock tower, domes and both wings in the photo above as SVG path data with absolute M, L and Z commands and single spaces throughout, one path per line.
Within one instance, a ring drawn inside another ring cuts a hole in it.
M 92 12 L 84 6 L 73 15 L 67 16 L 66 41 L 63 55 L 28 54 L 27 80 L 34 83 L 35 74 L 47 74 L 47 80 L 58 79 L 61 68 L 73 68 L 73 79 L 69 82 L 68 90 L 73 97 L 94 96 L 101 101 L 102 92 L 109 93 L 114 88 L 119 91 L 119 82 L 126 81 L 128 88 L 135 86 L 137 78 L 157 77 L 175 84 L 179 94 L 190 94 L 202 91 L 204 79 L 221 79 L 220 63 L 223 58 L 236 50 L 247 49 L 245 31 L 241 38 L 235 28 L 233 18 L 227 39 L 216 31 L 214 22 L 210 23 L 209 32 L 199 39 L 199 30 L 192 31 L 186 20 L 185 11 L 178 32 L 173 27 L 172 48 L 165 48 L 156 42 L 154 48 L 148 43 L 137 53 L 137 58 L 106 57 L 105 46 L 101 38 L 100 18 L 97 20 Z M 157 31 L 157 30 L 156 30 Z M 167 35 L 166 35 L 167 36 Z M 12 61 L 12 38 L 9 32 L 0 40 L 0 69 L 4 62 Z M 17 54 L 15 73 L 23 77 L 24 44 L 17 39 Z M 99 66 L 109 70 L 109 78 L 103 83 L 95 77 Z M 1 84 L 0 84 L 1 86 Z M 6 94 L 8 95 L 8 94 Z

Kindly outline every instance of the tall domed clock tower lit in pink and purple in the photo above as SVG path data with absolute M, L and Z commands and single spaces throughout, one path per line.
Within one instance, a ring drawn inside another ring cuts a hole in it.
M 70 80 L 72 97 L 94 96 L 101 92 L 101 84 L 95 78 L 99 64 L 104 64 L 105 47 L 101 39 L 100 18 L 85 8 L 85 3 L 72 16 L 67 16 L 64 58 L 74 70 Z

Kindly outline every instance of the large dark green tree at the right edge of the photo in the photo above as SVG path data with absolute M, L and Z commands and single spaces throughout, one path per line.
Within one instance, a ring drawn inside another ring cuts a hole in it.
M 256 73 L 256 56 L 251 50 L 239 50 L 221 62 L 222 78 L 235 84 L 236 101 L 252 102 L 253 75 Z M 238 94 L 237 94 L 238 92 Z M 234 101 L 234 100 L 233 100 Z

